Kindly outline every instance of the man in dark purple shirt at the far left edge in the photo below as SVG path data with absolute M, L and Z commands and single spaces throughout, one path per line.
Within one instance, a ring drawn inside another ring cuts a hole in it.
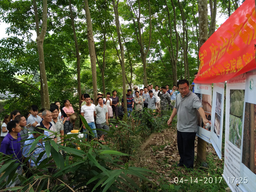
M 12 155 L 13 160 L 17 160 L 16 163 L 21 164 L 22 162 L 22 154 L 21 154 L 21 136 L 20 136 L 20 125 L 16 120 L 10 121 L 6 126 L 9 133 L 4 137 L 0 152 L 4 155 Z M 5 162 L 2 162 L 1 165 L 4 165 Z M 16 173 L 18 175 L 22 175 L 22 167 L 18 166 Z M 20 180 L 18 179 L 18 175 L 15 181 L 11 181 L 7 184 L 8 187 L 14 187 L 16 184 L 20 184 Z M 8 181 L 9 175 L 6 177 L 6 181 Z

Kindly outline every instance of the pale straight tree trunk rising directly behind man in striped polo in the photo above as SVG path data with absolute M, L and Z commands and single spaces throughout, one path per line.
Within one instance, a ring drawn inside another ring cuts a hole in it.
M 93 31 L 92 31 L 92 20 L 91 20 L 88 0 L 84 0 L 84 2 L 85 2 L 85 15 L 86 15 L 86 24 L 87 24 L 88 47 L 89 47 L 89 54 L 90 54 L 91 66 L 92 66 L 92 85 L 93 85 L 93 96 L 94 96 L 94 102 L 95 102 L 94 104 L 98 105 L 96 55 L 95 55 L 95 47 L 94 47 L 94 39 L 93 39 Z

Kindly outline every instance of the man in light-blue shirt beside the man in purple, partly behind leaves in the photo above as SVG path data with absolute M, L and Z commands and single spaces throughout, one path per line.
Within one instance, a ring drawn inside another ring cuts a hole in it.
M 40 155 L 41 152 L 45 151 L 45 143 L 44 141 L 42 141 L 44 138 L 41 138 L 35 149 L 31 152 L 31 154 L 29 154 L 28 152 L 31 149 L 31 145 L 32 143 L 35 141 L 35 139 L 39 136 L 41 136 L 42 134 L 45 135 L 45 137 L 49 137 L 49 133 L 48 131 L 44 131 L 42 129 L 42 126 L 36 126 L 34 128 L 34 131 L 36 131 L 37 133 L 33 133 L 28 137 L 28 140 L 25 141 L 24 143 L 24 148 L 23 148 L 23 156 L 24 157 L 34 157 L 35 160 L 37 161 L 38 156 Z M 38 166 L 45 158 L 47 158 L 46 153 L 41 157 L 41 159 L 37 162 L 37 164 L 35 164 L 35 162 L 33 161 L 32 158 L 30 158 L 30 160 L 27 161 L 28 163 L 28 167 L 34 167 L 34 166 Z

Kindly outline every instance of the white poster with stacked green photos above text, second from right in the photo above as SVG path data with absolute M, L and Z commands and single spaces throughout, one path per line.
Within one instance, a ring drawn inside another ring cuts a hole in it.
M 240 176 L 243 105 L 246 74 L 227 81 L 225 116 L 225 153 L 223 178 L 231 191 L 240 191 L 236 186 Z M 235 178 L 235 179 L 234 179 Z

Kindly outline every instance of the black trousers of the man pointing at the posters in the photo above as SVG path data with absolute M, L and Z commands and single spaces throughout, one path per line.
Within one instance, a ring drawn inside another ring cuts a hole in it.
M 187 168 L 194 168 L 196 134 L 197 132 L 181 132 L 177 130 L 177 143 L 180 154 L 179 164 Z

